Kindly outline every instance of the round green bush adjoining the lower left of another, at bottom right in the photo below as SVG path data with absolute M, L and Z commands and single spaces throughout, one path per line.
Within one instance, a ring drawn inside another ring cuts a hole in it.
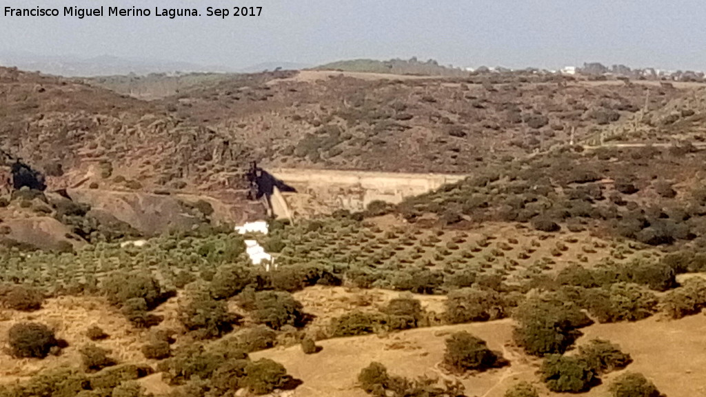
M 579 357 L 549 355 L 539 369 L 547 389 L 556 393 L 582 393 L 597 383 L 597 374 Z

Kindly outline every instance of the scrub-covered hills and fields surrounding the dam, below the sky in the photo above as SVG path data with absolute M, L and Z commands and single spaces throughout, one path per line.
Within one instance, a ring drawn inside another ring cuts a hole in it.
M 392 64 L 0 69 L 0 397 L 702 394 L 703 88 Z M 253 160 L 468 177 L 240 235 Z

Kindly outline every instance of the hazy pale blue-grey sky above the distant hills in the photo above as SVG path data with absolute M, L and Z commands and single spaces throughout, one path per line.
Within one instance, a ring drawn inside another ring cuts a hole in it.
M 9 18 L 5 6 L 263 6 L 260 17 Z M 244 67 L 351 58 L 706 69 L 706 4 L 657 0 L 0 0 L 0 50 Z

